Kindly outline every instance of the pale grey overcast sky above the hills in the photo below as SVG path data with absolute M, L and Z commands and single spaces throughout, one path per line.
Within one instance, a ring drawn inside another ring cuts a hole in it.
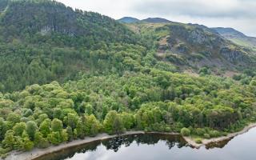
M 167 18 L 210 27 L 233 27 L 256 37 L 256 0 L 58 0 L 111 18 Z

